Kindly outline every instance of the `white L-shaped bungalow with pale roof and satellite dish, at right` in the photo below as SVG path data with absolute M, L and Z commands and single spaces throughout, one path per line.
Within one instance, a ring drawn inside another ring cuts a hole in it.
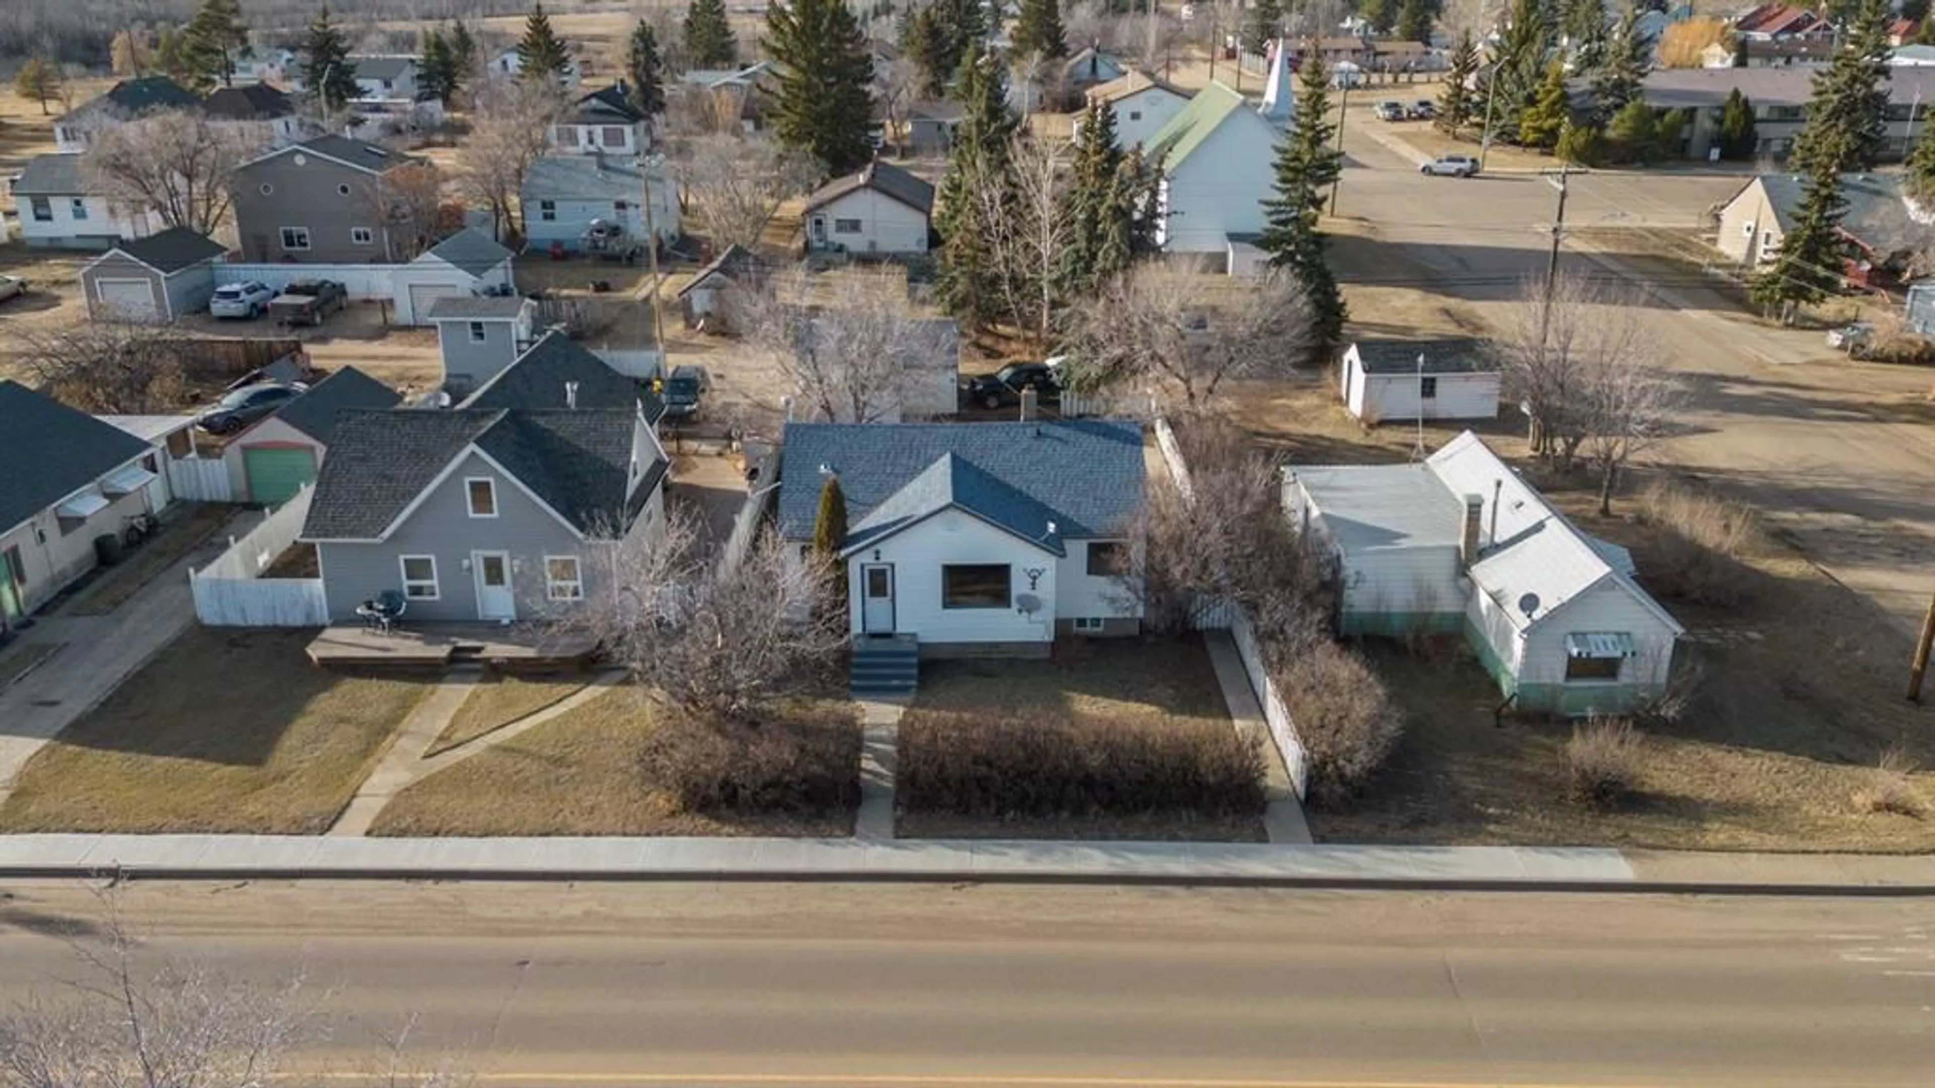
M 1581 532 L 1465 432 L 1414 465 L 1289 467 L 1287 515 L 1337 556 L 1347 635 L 1463 631 L 1519 709 L 1658 695 L 1683 627 L 1625 548 Z

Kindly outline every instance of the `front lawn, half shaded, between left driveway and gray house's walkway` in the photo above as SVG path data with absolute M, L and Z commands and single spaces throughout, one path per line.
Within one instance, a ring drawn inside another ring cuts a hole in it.
M 27 761 L 0 831 L 321 834 L 430 683 L 319 670 L 313 637 L 188 629 Z

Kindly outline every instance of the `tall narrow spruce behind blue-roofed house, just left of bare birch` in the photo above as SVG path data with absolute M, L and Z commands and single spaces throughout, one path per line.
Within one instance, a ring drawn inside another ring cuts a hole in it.
M 942 306 L 969 329 L 997 317 L 991 215 L 1012 192 L 1010 151 L 1018 130 L 1008 110 L 1008 81 L 998 56 L 985 56 L 981 43 L 968 46 L 950 89 L 962 105 L 962 122 L 948 151 L 948 172 L 935 192 L 935 228 L 940 232 L 935 290 Z

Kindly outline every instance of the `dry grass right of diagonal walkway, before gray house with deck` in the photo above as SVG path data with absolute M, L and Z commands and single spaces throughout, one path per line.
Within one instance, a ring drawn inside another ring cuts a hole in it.
M 797 701 L 789 710 L 853 724 L 846 701 Z M 639 763 L 654 712 L 633 689 L 592 699 L 410 784 L 377 815 L 372 834 L 851 834 L 851 813 L 728 819 L 681 811 Z

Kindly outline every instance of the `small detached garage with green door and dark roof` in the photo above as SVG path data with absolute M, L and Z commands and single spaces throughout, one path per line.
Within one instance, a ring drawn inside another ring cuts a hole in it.
M 346 408 L 393 408 L 402 395 L 344 366 L 313 389 L 244 430 L 223 451 L 238 501 L 281 505 L 315 480 L 337 414 Z

